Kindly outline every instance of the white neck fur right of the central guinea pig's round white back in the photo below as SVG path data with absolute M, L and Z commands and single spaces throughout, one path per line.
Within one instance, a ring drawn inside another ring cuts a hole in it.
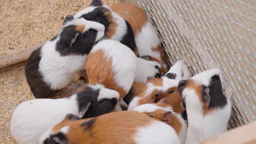
M 159 68 L 161 64 L 154 61 L 147 61 L 143 58 L 137 58 L 137 74 L 135 77 L 135 81 L 138 82 L 147 82 L 147 77 L 155 76 L 155 74 L 160 73 L 158 69 L 155 68 L 157 65 Z

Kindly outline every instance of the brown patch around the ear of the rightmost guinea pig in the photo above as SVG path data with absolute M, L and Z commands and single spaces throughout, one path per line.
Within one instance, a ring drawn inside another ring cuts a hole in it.
M 187 81 L 187 84 L 185 86 L 185 88 L 190 88 L 190 89 L 194 89 L 195 90 L 195 93 L 196 95 L 199 97 L 200 99 L 200 102 L 202 104 L 202 109 L 203 109 L 203 116 L 211 113 L 213 111 L 213 108 L 208 108 L 205 104 L 205 102 L 203 101 L 202 97 L 202 91 L 203 91 L 203 88 L 201 85 L 199 85 L 199 83 L 197 83 L 195 80 L 188 80 Z

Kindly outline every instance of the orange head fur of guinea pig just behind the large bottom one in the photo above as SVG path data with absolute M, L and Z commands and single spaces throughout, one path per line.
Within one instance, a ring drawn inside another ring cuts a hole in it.
M 159 121 L 170 125 L 178 134 L 181 131 L 182 123 L 179 121 L 179 118 L 170 111 L 158 109 L 154 112 L 144 113 L 149 116 L 153 116 L 155 119 L 158 119 Z

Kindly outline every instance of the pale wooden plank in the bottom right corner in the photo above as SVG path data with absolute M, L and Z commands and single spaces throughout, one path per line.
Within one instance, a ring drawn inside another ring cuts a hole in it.
M 227 131 L 226 133 L 216 136 L 210 140 L 201 142 L 202 144 L 238 144 L 238 143 L 256 143 L 256 121 Z

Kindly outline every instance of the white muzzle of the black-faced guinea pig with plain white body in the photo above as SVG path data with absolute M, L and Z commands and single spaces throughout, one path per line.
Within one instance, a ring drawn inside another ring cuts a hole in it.
M 116 98 L 119 99 L 119 93 L 117 91 L 114 91 L 112 89 L 108 89 L 105 88 L 103 85 L 95 85 L 95 86 L 91 86 L 94 89 L 100 89 L 100 93 L 98 95 L 98 100 L 101 99 L 112 99 L 112 98 Z

